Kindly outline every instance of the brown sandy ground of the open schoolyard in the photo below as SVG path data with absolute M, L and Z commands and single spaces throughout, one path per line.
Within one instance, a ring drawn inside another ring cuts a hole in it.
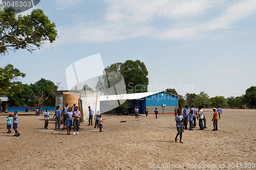
M 103 132 L 86 122 L 79 135 L 66 135 L 54 131 L 53 119 L 44 130 L 42 116 L 20 114 L 19 137 L 12 136 L 14 131 L 6 133 L 6 116 L 0 115 L 0 169 L 182 169 L 182 163 L 190 164 L 186 169 L 231 169 L 229 163 L 242 163 L 234 169 L 249 169 L 246 163 L 252 167 L 256 110 L 223 109 L 219 131 L 211 131 L 211 109 L 205 114 L 208 128 L 185 130 L 183 144 L 174 141 L 174 115 L 142 115 L 139 121 L 135 116 L 103 115 Z

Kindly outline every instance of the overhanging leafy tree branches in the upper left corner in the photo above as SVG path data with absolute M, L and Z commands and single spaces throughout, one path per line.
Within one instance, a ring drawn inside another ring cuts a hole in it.
M 57 37 L 56 26 L 40 9 L 31 14 L 15 15 L 13 8 L 0 8 L 0 53 L 5 55 L 8 50 L 26 49 L 32 53 L 40 49 L 45 41 L 51 43 Z

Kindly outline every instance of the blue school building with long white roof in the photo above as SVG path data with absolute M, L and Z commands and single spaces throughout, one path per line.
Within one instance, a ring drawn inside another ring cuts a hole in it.
M 156 107 L 159 111 L 159 114 L 174 114 L 175 108 L 178 107 L 179 98 L 179 96 L 170 94 L 166 91 L 105 95 L 100 96 L 100 108 L 101 113 L 115 112 L 112 109 L 107 111 L 108 108 L 111 108 L 110 105 L 112 105 L 115 101 L 120 101 L 120 103 L 126 101 L 129 103 L 131 108 L 138 106 L 140 113 L 145 113 L 146 106 L 148 109 L 148 114 L 154 114 Z

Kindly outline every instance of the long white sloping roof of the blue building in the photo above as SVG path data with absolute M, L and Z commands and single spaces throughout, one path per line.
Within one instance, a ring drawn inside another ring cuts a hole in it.
M 103 95 L 100 96 L 100 101 L 114 101 L 114 100 L 133 100 L 133 99 L 141 99 L 146 96 L 150 96 L 153 94 L 160 93 L 162 91 L 155 92 L 144 92 L 144 93 L 130 93 L 130 94 L 117 94 L 117 95 Z

